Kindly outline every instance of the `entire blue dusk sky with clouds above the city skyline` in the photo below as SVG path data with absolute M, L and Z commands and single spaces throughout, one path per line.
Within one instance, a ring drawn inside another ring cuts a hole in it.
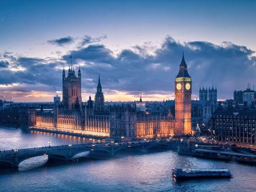
M 255 0 L 0 0 L 0 97 L 61 96 L 70 55 L 82 99 L 98 75 L 107 101 L 174 99 L 182 51 L 192 97 L 256 85 Z

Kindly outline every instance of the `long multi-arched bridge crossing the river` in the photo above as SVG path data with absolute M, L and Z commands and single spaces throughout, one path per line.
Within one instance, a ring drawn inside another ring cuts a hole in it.
M 45 146 L 27 149 L 15 149 L 0 151 L 0 165 L 18 168 L 19 164 L 29 158 L 36 156 L 48 156 L 49 159 L 59 159 L 71 161 L 73 156 L 89 151 L 90 153 L 107 153 L 114 155 L 122 149 L 137 149 L 146 152 L 153 146 L 171 147 L 171 141 L 151 141 L 151 142 L 132 142 L 132 143 L 115 143 L 115 144 L 69 144 L 60 146 Z

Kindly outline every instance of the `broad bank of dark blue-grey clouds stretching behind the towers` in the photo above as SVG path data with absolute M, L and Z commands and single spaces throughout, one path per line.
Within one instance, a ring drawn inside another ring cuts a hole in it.
M 61 91 L 62 67 L 68 69 L 72 54 L 75 72 L 78 66 L 82 72 L 84 95 L 95 93 L 100 74 L 103 91 L 109 99 L 115 93 L 125 93 L 119 94 L 119 99 L 129 94 L 135 97 L 144 95 L 153 100 L 154 96 L 156 99 L 161 95 L 171 97 L 182 50 L 193 81 L 193 95 L 198 95 L 200 86 L 209 86 L 213 82 L 218 89 L 218 98 L 225 99 L 230 98 L 234 89 L 244 89 L 247 82 L 256 83 L 255 51 L 231 42 L 221 45 L 206 41 L 180 43 L 167 36 L 160 47 L 151 47 L 148 43 L 146 46 L 136 45 L 133 49 L 121 50 L 118 55 L 104 45 L 92 44 L 70 50 L 61 60 L 13 56 L 9 64 L 23 71 L 8 68 L 0 73 L 0 84 L 19 86 L 0 87 L 0 91 L 19 93 L 19 96 L 35 96 L 35 93 L 43 91 L 54 95 L 52 87 L 56 86 Z

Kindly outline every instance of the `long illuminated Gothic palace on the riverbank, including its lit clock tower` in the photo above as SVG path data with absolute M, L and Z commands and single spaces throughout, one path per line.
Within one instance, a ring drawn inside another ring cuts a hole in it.
M 105 105 L 98 77 L 94 102 L 89 96 L 84 105 L 81 96 L 81 71 L 75 75 L 69 69 L 62 72 L 62 101 L 55 102 L 52 111 L 29 109 L 21 113 L 21 127 L 57 130 L 99 138 L 139 139 L 170 137 L 191 133 L 192 81 L 184 60 L 175 78 L 175 118 L 170 109 L 147 113 L 146 102 L 136 105 Z M 138 110 L 141 108 L 142 110 Z

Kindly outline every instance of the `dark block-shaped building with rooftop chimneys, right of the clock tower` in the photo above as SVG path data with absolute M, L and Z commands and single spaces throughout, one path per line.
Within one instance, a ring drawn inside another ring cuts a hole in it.
M 213 138 L 222 142 L 256 143 L 256 108 L 254 102 L 247 106 L 235 107 L 229 102 L 223 108 L 219 102 L 218 109 L 211 116 L 211 131 Z

